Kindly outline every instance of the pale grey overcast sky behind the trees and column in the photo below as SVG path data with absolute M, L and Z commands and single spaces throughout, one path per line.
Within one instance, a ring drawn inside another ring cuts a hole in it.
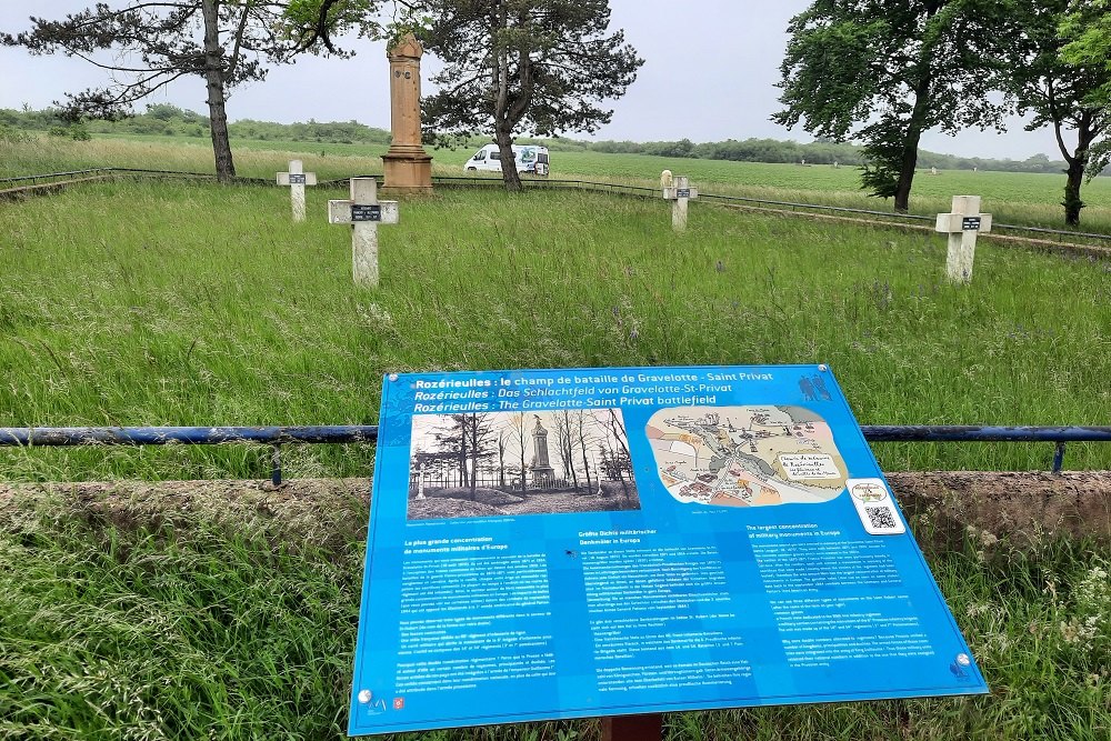
M 113 0 L 119 7 L 122 0 Z M 60 19 L 93 4 L 90 0 L 0 0 L 0 30 L 30 27 L 30 14 Z M 611 28 L 645 60 L 624 98 L 612 101 L 613 120 L 595 137 L 634 141 L 719 141 L 769 137 L 810 141 L 801 128 L 788 130 L 769 117 L 779 109 L 779 64 L 787 23 L 808 0 L 611 0 Z M 349 121 L 390 128 L 389 66 L 381 43 L 349 40 L 350 60 L 304 57 L 274 68 L 264 82 L 233 91 L 232 120 Z M 424 77 L 436 60 L 424 59 Z M 99 87 L 107 73 L 78 59 L 31 57 L 0 48 L 0 108 L 44 108 L 63 93 Z M 428 90 L 428 86 L 426 86 Z M 150 99 L 207 112 L 199 78 L 173 83 Z M 1050 130 L 1027 132 L 1012 120 L 1005 134 L 968 131 L 955 138 L 927 134 L 922 147 L 965 157 L 1060 159 Z M 570 134 L 575 136 L 575 134 Z M 579 137 L 583 138 L 583 137 Z

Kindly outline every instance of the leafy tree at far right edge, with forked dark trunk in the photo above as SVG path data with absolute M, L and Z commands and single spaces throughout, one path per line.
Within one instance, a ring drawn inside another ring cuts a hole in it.
M 1070 7 L 1078 9 L 1070 14 Z M 1070 43 L 1082 41 L 1089 22 L 1098 26 L 1099 12 L 1104 18 L 1109 13 L 1070 0 L 1013 0 L 1005 32 L 1013 44 L 1004 89 L 1014 96 L 1020 111 L 1033 113 L 1027 130 L 1053 127 L 1067 162 L 1061 204 L 1064 221 L 1072 227 L 1080 223 L 1084 208 L 1080 191 L 1085 172 L 1094 177 L 1111 161 L 1111 110 L 1105 97 L 1111 90 L 1111 66 L 1063 53 Z M 1083 22 L 1078 26 L 1078 21 Z M 1075 132 L 1074 144 L 1065 143 L 1065 129 Z

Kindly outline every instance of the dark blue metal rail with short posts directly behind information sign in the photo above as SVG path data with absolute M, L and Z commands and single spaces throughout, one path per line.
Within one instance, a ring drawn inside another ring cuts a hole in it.
M 1052 442 L 1053 473 L 1064 463 L 1069 442 L 1111 442 L 1111 427 L 993 427 L 957 424 L 863 424 L 869 442 Z M 281 445 L 376 442 L 377 424 L 316 427 L 9 427 L 0 447 L 70 445 L 271 445 L 270 479 L 281 483 Z

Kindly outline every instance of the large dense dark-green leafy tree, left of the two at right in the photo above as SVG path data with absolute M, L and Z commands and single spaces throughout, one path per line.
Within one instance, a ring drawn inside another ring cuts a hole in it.
M 815 0 L 791 19 L 772 120 L 864 142 L 861 183 L 907 211 L 922 134 L 1000 126 L 997 0 Z

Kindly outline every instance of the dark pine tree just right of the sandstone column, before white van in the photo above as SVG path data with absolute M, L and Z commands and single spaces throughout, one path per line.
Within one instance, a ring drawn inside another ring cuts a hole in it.
M 429 139 L 492 133 L 508 190 L 520 190 L 513 132 L 595 131 L 643 60 L 608 33 L 609 0 L 429 0 L 424 48 L 444 62 L 427 98 Z

